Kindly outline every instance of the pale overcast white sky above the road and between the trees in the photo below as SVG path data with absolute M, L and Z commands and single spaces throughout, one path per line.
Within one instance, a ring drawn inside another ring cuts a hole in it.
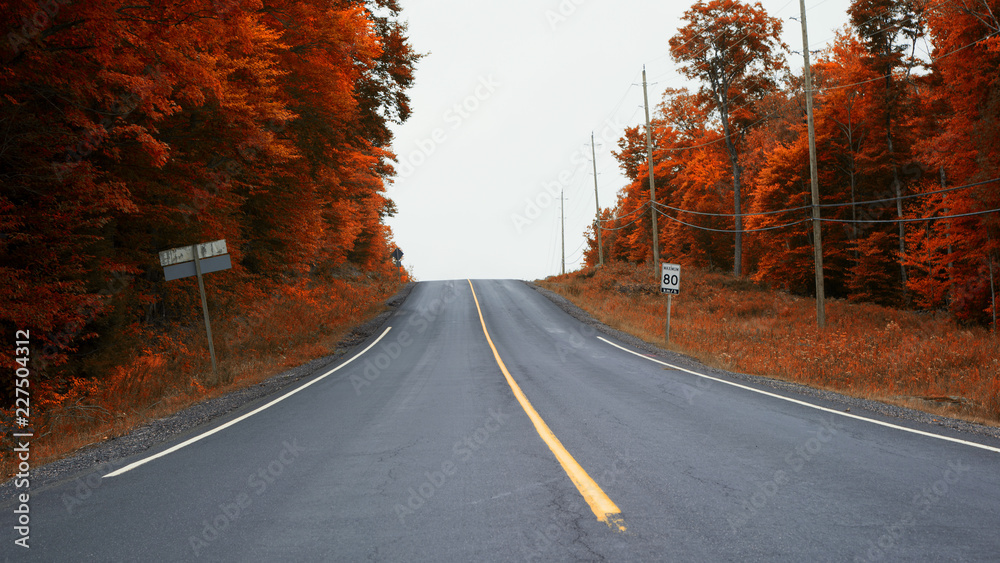
M 399 176 L 389 219 L 403 263 L 421 281 L 534 280 L 560 270 L 565 191 L 566 270 L 582 264 L 593 219 L 590 135 L 602 207 L 625 185 L 611 151 L 644 123 L 642 66 L 655 107 L 689 85 L 668 41 L 694 0 L 402 0 L 421 53 L 413 115 L 395 128 Z M 764 0 L 802 48 L 797 0 Z M 812 50 L 847 23 L 848 0 L 807 0 Z M 799 55 L 790 64 L 801 68 Z M 546 188 L 548 186 L 548 188 Z

